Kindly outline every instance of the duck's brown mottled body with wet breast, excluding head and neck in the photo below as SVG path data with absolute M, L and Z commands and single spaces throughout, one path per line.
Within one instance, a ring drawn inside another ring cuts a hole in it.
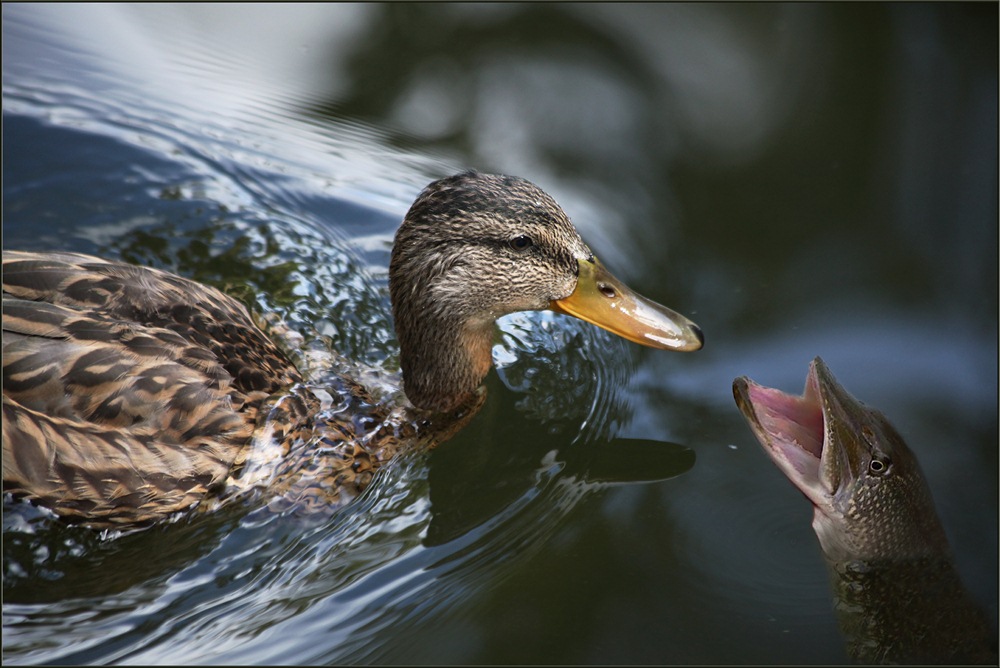
M 417 420 L 348 378 L 311 386 L 241 304 L 155 269 L 4 251 L 3 283 L 4 491 L 95 528 L 262 491 L 329 510 L 485 399 Z

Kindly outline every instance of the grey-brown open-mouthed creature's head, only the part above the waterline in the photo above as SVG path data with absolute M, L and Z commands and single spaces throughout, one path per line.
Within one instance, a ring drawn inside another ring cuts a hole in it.
M 947 549 L 916 457 L 822 359 L 810 365 L 800 396 L 746 377 L 733 382 L 733 394 L 764 451 L 812 503 L 827 558 L 898 559 Z

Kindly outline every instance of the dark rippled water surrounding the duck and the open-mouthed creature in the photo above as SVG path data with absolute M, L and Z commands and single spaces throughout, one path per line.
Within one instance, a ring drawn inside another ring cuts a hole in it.
M 693 355 L 501 322 L 483 411 L 323 521 L 4 510 L 14 663 L 837 663 L 808 504 L 732 379 L 822 355 L 997 618 L 995 5 L 3 7 L 5 248 L 219 285 L 396 368 L 392 234 L 550 192 Z

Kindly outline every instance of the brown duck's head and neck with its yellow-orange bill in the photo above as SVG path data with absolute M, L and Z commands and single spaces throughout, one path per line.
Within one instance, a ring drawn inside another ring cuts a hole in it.
M 418 408 L 469 399 L 492 363 L 493 324 L 552 309 L 652 348 L 698 350 L 701 330 L 625 286 L 540 188 L 466 172 L 427 186 L 396 232 L 389 291 L 403 389 Z

